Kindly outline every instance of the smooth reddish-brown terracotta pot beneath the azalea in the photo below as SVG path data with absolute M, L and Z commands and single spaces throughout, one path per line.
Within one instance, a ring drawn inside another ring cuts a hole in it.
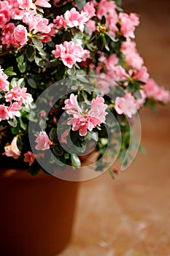
M 0 255 L 54 256 L 72 234 L 77 182 L 0 169 Z

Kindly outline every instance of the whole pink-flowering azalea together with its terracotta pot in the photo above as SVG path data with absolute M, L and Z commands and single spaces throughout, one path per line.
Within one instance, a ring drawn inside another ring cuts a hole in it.
M 74 181 L 114 176 L 116 157 L 128 166 L 138 110 L 169 101 L 136 50 L 136 26 L 120 0 L 0 2 L 1 255 L 58 253 Z

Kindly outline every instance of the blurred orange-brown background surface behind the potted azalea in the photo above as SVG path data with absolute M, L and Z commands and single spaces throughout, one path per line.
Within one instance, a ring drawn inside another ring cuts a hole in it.
M 124 0 L 140 15 L 136 43 L 150 76 L 170 89 L 170 1 Z M 72 241 L 60 256 L 170 255 L 170 105 L 143 109 L 142 146 L 115 180 L 80 183 Z

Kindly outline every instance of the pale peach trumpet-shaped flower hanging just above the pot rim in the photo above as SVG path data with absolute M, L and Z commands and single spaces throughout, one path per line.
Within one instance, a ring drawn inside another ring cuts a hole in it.
M 20 151 L 17 146 L 17 137 L 13 138 L 12 143 L 7 144 L 4 147 L 4 153 L 7 157 L 13 157 L 14 159 L 18 159 L 20 157 Z

